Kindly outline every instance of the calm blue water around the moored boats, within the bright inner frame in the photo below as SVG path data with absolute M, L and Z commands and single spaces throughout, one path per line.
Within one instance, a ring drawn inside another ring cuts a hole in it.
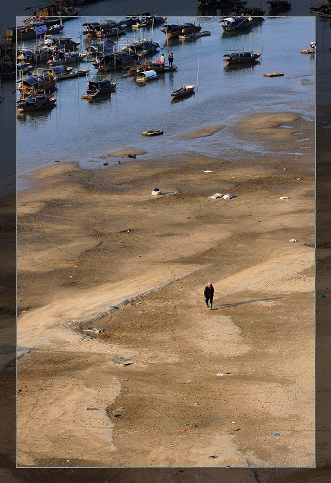
M 101 17 L 106 18 L 109 17 Z M 242 112 L 284 110 L 284 103 L 286 110 L 314 118 L 315 59 L 301 54 L 315 38 L 314 17 L 265 17 L 250 31 L 235 34 L 223 33 L 219 17 L 168 18 L 169 23 L 192 20 L 201 24 L 201 30 L 211 30 L 210 37 L 168 39 L 167 43 L 160 27 L 154 28 L 153 40 L 159 43 L 160 51 L 148 59 L 159 58 L 161 52 L 167 58 L 168 52 L 172 52 L 177 72 L 160 74 L 159 79 L 146 85 L 139 85 L 125 71 L 111 72 L 116 92 L 89 102 L 81 95 L 86 94 L 87 80 L 97 71 L 93 58 L 87 57 L 79 63 L 81 68 L 90 68 L 87 78 L 57 83 L 57 107 L 17 115 L 17 174 L 57 160 L 96 166 L 102 162 L 101 155 L 121 148 L 143 149 L 149 156 L 163 152 L 172 156 L 179 150 L 223 155 L 219 144 L 214 146 L 214 137 L 185 141 L 173 137 L 205 126 L 228 124 L 239 119 Z M 82 51 L 88 45 L 86 36 L 81 34 L 85 21 L 86 17 L 79 17 L 63 24 L 63 35 L 80 40 Z M 126 35 L 119 37 L 119 43 L 151 36 L 152 28 L 138 32 L 128 29 Z M 33 41 L 25 41 L 25 45 L 32 46 Z M 262 55 L 254 65 L 228 68 L 223 55 L 229 48 L 254 49 Z M 277 70 L 285 76 L 263 77 L 263 73 Z M 172 101 L 172 90 L 184 83 L 198 85 L 195 95 Z M 142 130 L 161 128 L 162 122 L 163 137 L 141 136 Z M 224 150 L 230 142 L 231 139 L 224 140 Z M 25 187 L 26 181 L 19 179 L 18 188 Z

